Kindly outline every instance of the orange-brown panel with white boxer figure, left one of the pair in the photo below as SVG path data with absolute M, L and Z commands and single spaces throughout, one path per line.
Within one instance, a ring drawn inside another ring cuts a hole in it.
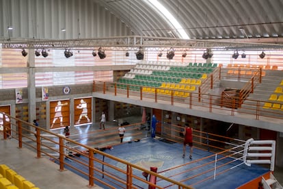
M 70 100 L 50 102 L 50 129 L 70 126 Z

